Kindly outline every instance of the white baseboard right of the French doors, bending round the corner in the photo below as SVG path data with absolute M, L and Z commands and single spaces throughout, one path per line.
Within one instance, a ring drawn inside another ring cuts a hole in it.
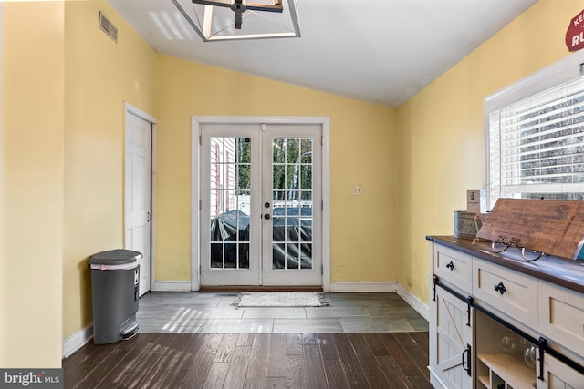
M 387 293 L 397 292 L 400 297 L 420 313 L 424 319 L 430 319 L 430 308 L 399 282 L 330 282 L 332 293 Z

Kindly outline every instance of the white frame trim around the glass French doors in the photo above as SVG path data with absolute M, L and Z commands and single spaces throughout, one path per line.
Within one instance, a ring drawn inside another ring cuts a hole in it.
M 191 117 L 191 290 L 201 289 L 201 127 L 205 124 L 319 125 L 322 128 L 322 289 L 330 292 L 330 118 L 328 117 Z

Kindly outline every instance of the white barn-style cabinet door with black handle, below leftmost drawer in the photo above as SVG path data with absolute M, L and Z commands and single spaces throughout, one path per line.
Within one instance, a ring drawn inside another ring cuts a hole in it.
M 436 288 L 433 302 L 432 369 L 447 388 L 472 387 L 472 327 L 468 322 L 468 305 L 452 294 Z M 471 322 L 472 325 L 472 322 Z

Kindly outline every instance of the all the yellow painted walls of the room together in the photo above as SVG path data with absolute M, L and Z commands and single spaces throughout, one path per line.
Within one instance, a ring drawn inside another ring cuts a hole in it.
M 584 0 L 539 0 L 397 110 L 158 56 L 105 0 L 3 6 L 0 365 L 58 367 L 91 322 L 89 255 L 123 244 L 124 101 L 159 118 L 157 280 L 190 280 L 192 115 L 324 116 L 332 281 L 427 301 L 424 237 L 484 185 L 483 99 L 568 56 Z

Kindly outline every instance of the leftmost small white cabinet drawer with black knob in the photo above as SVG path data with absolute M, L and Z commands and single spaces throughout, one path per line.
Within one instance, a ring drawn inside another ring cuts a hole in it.
M 473 257 L 449 247 L 434 245 L 433 272 L 442 281 L 470 293 L 473 290 Z

